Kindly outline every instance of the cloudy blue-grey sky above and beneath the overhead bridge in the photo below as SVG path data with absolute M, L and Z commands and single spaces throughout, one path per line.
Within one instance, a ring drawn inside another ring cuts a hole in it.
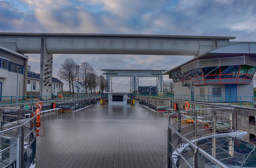
M 0 32 L 211 35 L 255 42 L 255 4 L 255 0 L 0 0 Z M 39 72 L 40 56 L 28 56 L 31 70 Z M 55 54 L 53 77 L 68 57 L 78 64 L 87 61 L 98 75 L 101 69 L 170 70 L 193 58 Z M 113 81 L 115 91 L 129 90 L 128 77 Z M 139 84 L 154 81 L 144 78 Z

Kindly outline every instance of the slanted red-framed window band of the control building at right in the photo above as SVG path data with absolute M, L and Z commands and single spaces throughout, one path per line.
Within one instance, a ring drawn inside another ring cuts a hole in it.
M 181 74 L 170 74 L 174 83 L 185 80 L 192 81 L 193 85 L 203 84 L 250 84 L 256 71 L 255 66 L 251 65 L 228 65 L 197 67 Z M 176 73 L 180 71 L 177 70 Z M 174 76 L 173 76 L 174 75 Z

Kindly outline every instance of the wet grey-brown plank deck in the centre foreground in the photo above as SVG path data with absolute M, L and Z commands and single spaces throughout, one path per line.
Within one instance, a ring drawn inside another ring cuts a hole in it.
M 138 102 L 97 104 L 46 117 L 43 125 L 36 168 L 166 168 L 167 117 Z

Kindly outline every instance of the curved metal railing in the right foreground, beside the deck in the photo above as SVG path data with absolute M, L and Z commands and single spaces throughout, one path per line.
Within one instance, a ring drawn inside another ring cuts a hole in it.
M 207 158 L 208 162 L 221 168 L 227 168 L 225 164 L 208 154 L 191 140 L 217 134 L 218 132 L 233 132 L 236 124 L 233 123 L 234 108 L 207 108 L 180 111 L 168 116 L 168 142 L 167 142 L 167 168 L 189 167 L 199 168 Z M 174 117 L 175 116 L 175 117 Z M 203 120 L 204 119 L 204 120 Z M 209 127 L 204 127 L 209 124 Z M 219 125 L 219 123 L 224 123 Z M 193 155 L 184 157 L 181 147 L 190 145 L 194 150 Z M 202 157 L 203 156 L 203 157 Z

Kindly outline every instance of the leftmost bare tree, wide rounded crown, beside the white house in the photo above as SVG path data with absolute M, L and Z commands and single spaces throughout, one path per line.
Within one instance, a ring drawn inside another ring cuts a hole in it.
M 74 94 L 74 80 L 77 76 L 76 70 L 77 64 L 72 58 L 66 58 L 64 62 L 60 65 L 60 70 L 58 71 L 58 77 L 60 79 L 68 81 L 69 93 L 71 93 L 71 85 Z

